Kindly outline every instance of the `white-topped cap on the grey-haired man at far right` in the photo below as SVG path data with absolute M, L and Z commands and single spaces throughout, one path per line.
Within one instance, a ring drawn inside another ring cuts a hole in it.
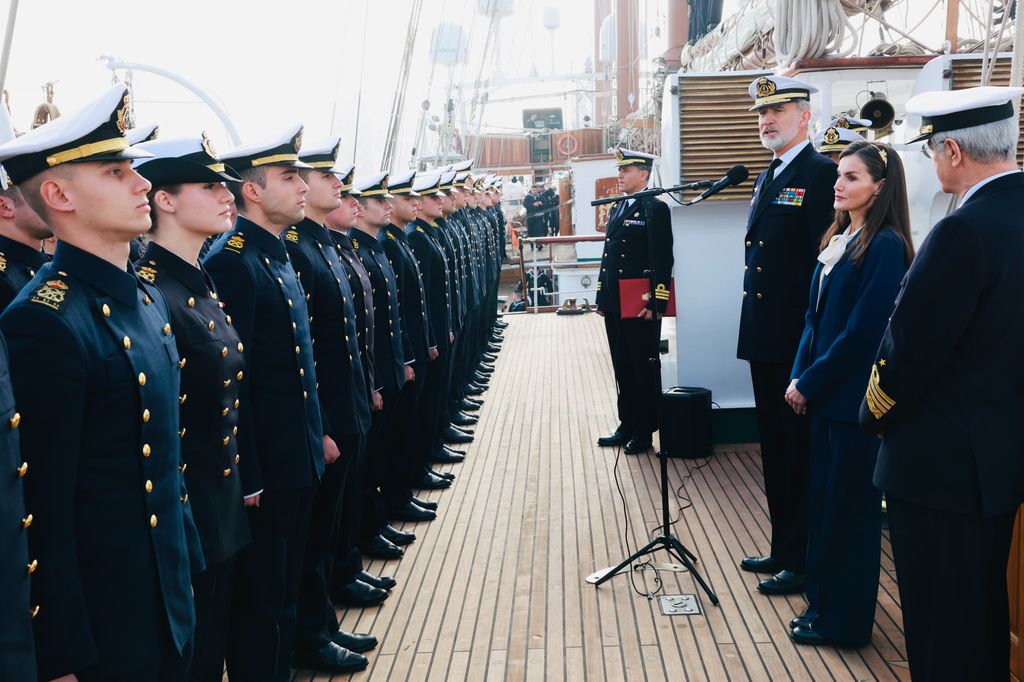
M 906 113 L 921 117 L 918 136 L 910 142 L 928 139 L 937 132 L 973 128 L 1014 116 L 1014 99 L 1024 94 L 1021 87 L 986 85 L 964 90 L 922 92 L 906 102 Z

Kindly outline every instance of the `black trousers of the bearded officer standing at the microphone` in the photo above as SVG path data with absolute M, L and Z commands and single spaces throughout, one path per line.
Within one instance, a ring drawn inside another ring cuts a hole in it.
M 751 363 L 761 435 L 761 465 L 771 517 L 771 555 L 797 573 L 807 559 L 810 425 L 785 402 L 792 365 Z

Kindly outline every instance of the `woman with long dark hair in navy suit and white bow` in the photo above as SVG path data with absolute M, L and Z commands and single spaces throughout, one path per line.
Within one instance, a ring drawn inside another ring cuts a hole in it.
M 836 220 L 821 240 L 786 402 L 811 420 L 807 610 L 800 644 L 863 646 L 878 596 L 882 494 L 879 439 L 857 415 L 871 364 L 913 259 L 903 165 L 887 144 L 840 156 Z

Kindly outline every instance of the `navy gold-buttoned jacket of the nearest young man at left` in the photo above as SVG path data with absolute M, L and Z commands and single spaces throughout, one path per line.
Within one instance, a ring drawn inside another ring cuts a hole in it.
M 0 317 L 22 415 L 39 676 L 180 651 L 202 569 L 156 287 L 68 243 Z M 189 566 L 191 558 L 191 566 Z

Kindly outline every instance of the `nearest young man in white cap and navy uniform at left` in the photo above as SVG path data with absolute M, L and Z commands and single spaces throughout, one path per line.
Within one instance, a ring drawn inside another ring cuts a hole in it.
M 184 680 L 191 656 L 190 572 L 204 564 L 180 470 L 170 313 L 128 262 L 151 225 L 129 106 L 119 84 L 0 146 L 59 240 L 0 317 L 20 413 L 5 424 L 19 427 L 35 517 L 23 525 L 42 680 Z

